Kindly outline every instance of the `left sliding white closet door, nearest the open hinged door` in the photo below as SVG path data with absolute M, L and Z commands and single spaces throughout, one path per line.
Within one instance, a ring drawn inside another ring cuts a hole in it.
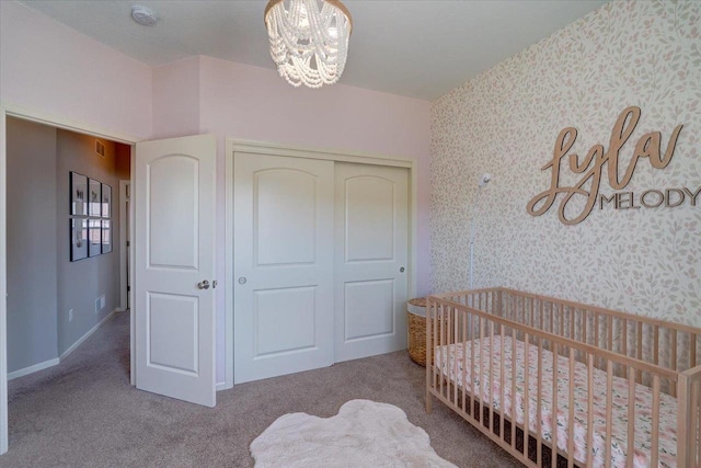
M 234 155 L 234 381 L 333 364 L 333 162 Z

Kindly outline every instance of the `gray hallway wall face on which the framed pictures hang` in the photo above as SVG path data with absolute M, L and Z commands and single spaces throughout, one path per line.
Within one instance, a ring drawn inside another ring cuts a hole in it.
M 105 316 L 119 307 L 119 175 L 116 144 L 105 145 L 105 157 L 95 153 L 95 138 L 57 130 L 58 199 L 58 354 L 80 340 Z M 70 261 L 70 171 L 112 185 L 112 252 Z M 126 176 L 128 179 L 128 175 Z M 105 307 L 95 313 L 95 299 L 105 295 Z M 73 309 L 73 321 L 68 311 Z

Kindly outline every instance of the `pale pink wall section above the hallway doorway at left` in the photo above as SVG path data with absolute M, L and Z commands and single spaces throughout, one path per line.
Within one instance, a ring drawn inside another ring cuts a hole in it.
M 151 134 L 149 67 L 10 1 L 0 1 L 0 100 L 104 132 Z

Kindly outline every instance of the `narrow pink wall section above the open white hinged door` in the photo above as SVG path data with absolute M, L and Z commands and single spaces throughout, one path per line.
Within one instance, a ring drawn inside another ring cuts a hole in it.
M 199 57 L 191 57 L 152 70 L 153 103 L 150 138 L 199 133 Z

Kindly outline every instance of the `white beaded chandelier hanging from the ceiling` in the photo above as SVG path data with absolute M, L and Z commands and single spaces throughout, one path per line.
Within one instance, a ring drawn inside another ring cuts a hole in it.
M 353 20 L 337 0 L 271 0 L 265 7 L 271 57 L 294 87 L 338 81 L 346 65 Z

